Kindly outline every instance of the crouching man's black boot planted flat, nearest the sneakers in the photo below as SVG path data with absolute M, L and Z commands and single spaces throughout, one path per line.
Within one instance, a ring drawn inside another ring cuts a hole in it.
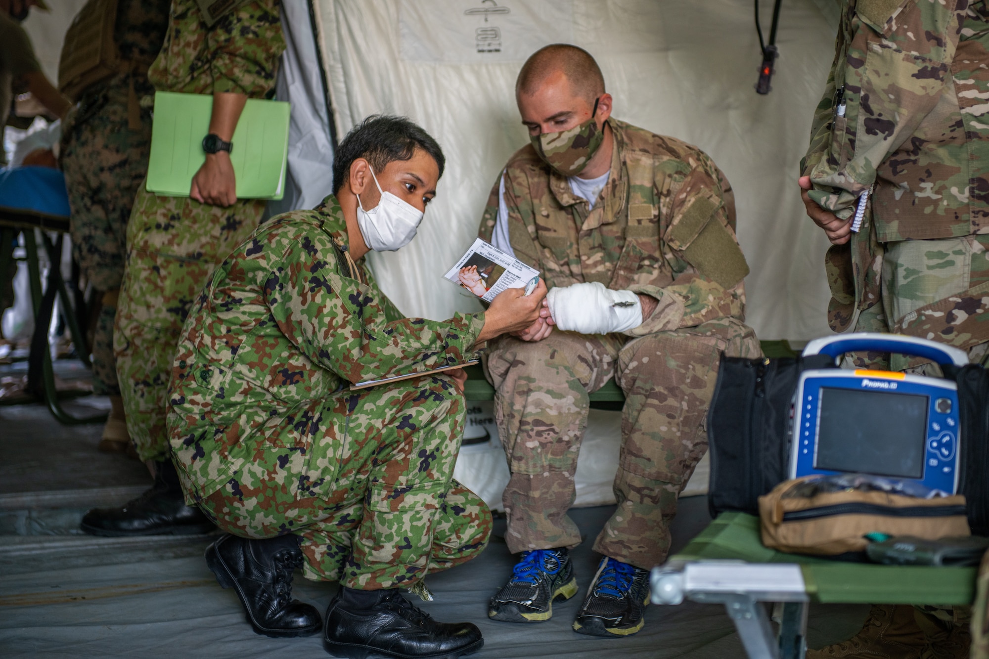
M 470 622 L 437 622 L 398 590 L 340 587 L 326 610 L 323 646 L 335 657 L 458 659 L 481 649 L 481 629 Z

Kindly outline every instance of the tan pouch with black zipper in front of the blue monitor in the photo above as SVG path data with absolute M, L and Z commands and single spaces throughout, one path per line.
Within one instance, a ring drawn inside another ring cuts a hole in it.
M 864 551 L 866 533 L 913 535 L 929 540 L 970 535 L 962 495 L 919 499 L 849 489 L 802 493 L 817 476 L 780 483 L 759 498 L 763 544 L 777 551 L 834 556 Z

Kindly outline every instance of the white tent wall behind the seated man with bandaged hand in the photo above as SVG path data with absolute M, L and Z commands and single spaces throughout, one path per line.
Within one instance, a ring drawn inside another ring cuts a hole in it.
M 761 56 L 744 0 L 500 0 L 507 13 L 498 14 L 466 13 L 492 0 L 315 5 L 338 135 L 371 114 L 406 115 L 447 155 L 419 235 L 399 253 L 371 256 L 405 314 L 438 320 L 478 309 L 441 275 L 474 239 L 500 167 L 527 141 L 513 94 L 522 61 L 569 41 L 597 58 L 616 117 L 697 144 L 732 182 L 752 268 L 748 322 L 760 337 L 829 333 L 827 239 L 804 215 L 795 181 L 833 58 L 828 0 L 783 2 L 767 96 L 754 89 Z M 499 29 L 499 52 L 478 52 L 479 28 Z

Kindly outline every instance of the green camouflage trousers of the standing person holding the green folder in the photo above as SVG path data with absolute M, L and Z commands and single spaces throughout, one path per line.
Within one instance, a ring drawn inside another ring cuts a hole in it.
M 141 460 L 168 457 L 172 357 L 190 305 L 213 268 L 257 227 L 265 202 L 229 208 L 159 197 L 141 184 L 127 231 L 114 355 L 128 432 Z

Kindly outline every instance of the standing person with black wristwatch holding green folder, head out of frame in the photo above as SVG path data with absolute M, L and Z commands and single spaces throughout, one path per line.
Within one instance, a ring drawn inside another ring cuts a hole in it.
M 140 186 L 114 331 L 128 431 L 137 455 L 153 465 L 155 483 L 123 508 L 86 514 L 82 529 L 97 535 L 213 528 L 197 508 L 186 506 L 172 465 L 165 430 L 168 378 L 193 302 L 213 268 L 254 231 L 264 212 L 264 200 L 236 198 L 229 154 L 216 146 L 231 140 L 248 97 L 274 94 L 285 42 L 278 0 L 226 3 L 211 23 L 200 4 L 172 0 L 164 44 L 147 75 L 157 91 L 213 95 L 206 162 L 188 198 L 161 197 Z

